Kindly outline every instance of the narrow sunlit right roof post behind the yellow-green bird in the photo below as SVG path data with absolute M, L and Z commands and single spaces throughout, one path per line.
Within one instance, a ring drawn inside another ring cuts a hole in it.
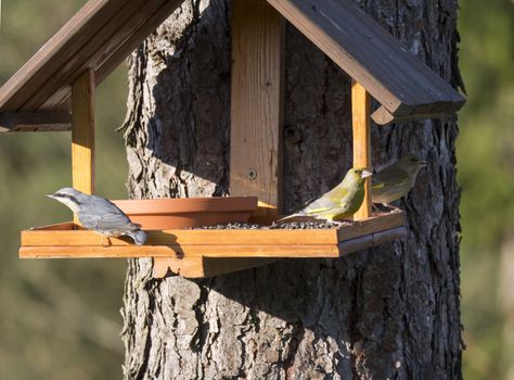
M 371 100 L 370 94 L 357 81 L 351 83 L 351 123 L 354 126 L 354 167 L 371 169 Z M 365 195 L 355 220 L 371 216 L 371 178 L 365 179 Z

